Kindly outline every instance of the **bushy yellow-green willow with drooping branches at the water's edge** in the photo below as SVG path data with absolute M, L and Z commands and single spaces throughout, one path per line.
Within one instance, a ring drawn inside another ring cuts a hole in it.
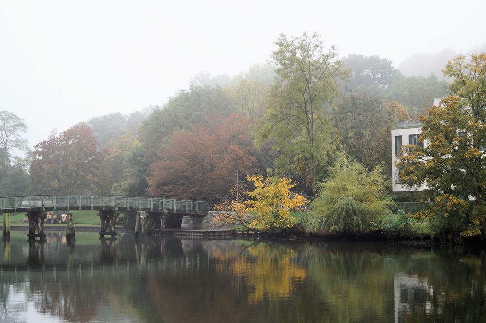
M 391 196 L 381 165 L 371 172 L 341 152 L 330 176 L 317 184 L 318 195 L 311 209 L 315 227 L 329 233 L 362 233 L 372 222 L 390 212 Z

